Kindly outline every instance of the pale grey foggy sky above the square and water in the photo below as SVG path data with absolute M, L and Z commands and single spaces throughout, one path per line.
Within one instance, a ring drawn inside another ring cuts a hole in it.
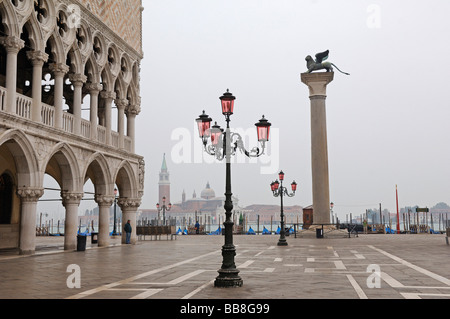
M 142 112 L 136 152 L 145 157 L 141 208 L 155 208 L 166 154 L 172 203 L 209 181 L 225 191 L 225 163 L 201 151 L 203 110 L 225 126 L 219 97 L 236 96 L 231 127 L 257 146 L 254 124 L 272 123 L 267 156 L 238 154 L 232 192 L 241 206 L 279 204 L 269 184 L 283 170 L 298 191 L 285 205 L 312 204 L 310 101 L 305 57 L 330 50 L 327 90 L 330 200 L 334 212 L 450 203 L 450 2 L 143 1 Z M 253 135 L 253 136 L 252 136 Z M 84 205 L 85 203 L 83 203 Z M 92 203 L 91 203 L 92 204 Z

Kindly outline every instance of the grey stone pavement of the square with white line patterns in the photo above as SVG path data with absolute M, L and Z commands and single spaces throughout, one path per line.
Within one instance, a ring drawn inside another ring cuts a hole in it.
M 1 299 L 310 300 L 450 299 L 445 235 L 370 234 L 345 238 L 234 236 L 244 284 L 215 288 L 223 236 L 64 252 L 63 238 L 37 238 L 33 256 L 0 252 Z M 80 288 L 75 283 L 79 267 Z M 381 278 L 380 278 L 381 276 Z

